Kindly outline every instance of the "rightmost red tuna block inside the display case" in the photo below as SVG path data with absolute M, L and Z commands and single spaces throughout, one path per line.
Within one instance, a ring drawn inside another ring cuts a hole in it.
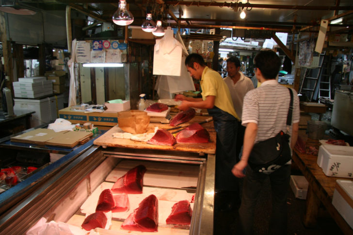
M 188 225 L 191 223 L 191 216 L 193 210 L 191 209 L 188 200 L 177 202 L 172 207 L 172 212 L 165 220 L 167 224 L 182 224 Z

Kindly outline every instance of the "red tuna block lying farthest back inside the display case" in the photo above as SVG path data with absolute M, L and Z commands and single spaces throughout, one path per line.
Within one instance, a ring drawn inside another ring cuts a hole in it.
M 146 167 L 144 165 L 139 165 L 130 169 L 114 183 L 112 192 L 125 192 L 130 194 L 142 193 L 142 188 L 144 186 L 144 172 L 146 172 Z

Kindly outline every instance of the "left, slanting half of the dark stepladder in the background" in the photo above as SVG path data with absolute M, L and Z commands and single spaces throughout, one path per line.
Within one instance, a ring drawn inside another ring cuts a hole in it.
M 315 91 L 317 91 L 317 85 L 319 84 L 323 59 L 324 54 L 320 54 L 318 67 L 305 68 L 305 75 L 300 86 L 299 93 L 305 94 L 308 97 L 309 101 L 313 100 Z

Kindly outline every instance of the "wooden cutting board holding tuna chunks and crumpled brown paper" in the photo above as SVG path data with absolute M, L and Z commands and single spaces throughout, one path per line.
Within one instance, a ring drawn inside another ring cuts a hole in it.
M 204 121 L 209 117 L 207 116 L 195 116 L 189 123 Z M 158 126 L 162 129 L 168 129 L 172 126 L 168 124 L 160 123 L 150 123 L 147 127 L 146 132 L 153 132 L 154 128 Z M 132 141 L 127 139 L 117 139 L 113 138 L 112 134 L 118 132 L 118 126 L 113 126 L 112 129 L 104 133 L 102 136 L 98 137 L 94 144 L 103 147 L 123 147 L 123 148 L 136 148 L 136 149 L 154 149 L 154 150 L 166 150 L 166 151 L 182 151 L 182 152 L 192 152 L 192 153 L 205 153 L 205 154 L 215 154 L 216 153 L 216 132 L 213 127 L 213 122 L 205 123 L 202 125 L 209 131 L 210 142 L 209 143 L 176 143 L 173 146 L 169 145 L 154 145 L 148 144 L 146 142 Z

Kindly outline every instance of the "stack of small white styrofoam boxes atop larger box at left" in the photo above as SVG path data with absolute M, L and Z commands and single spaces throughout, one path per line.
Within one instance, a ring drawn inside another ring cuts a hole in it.
M 18 78 L 12 83 L 15 97 L 38 98 L 53 94 L 53 85 L 46 77 Z

